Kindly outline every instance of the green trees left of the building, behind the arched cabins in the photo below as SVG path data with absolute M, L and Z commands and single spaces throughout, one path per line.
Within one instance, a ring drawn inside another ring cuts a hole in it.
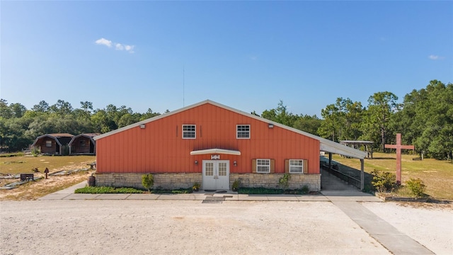
M 28 110 L 21 103 L 8 105 L 6 100 L 0 99 L 0 150 L 26 149 L 36 137 L 44 134 L 105 133 L 160 115 L 151 108 L 146 113 L 134 113 L 127 106 L 118 108 L 109 104 L 93 110 L 91 102 L 81 101 L 80 104 L 80 108 L 74 109 L 71 103 L 63 100 L 53 105 L 40 101 Z

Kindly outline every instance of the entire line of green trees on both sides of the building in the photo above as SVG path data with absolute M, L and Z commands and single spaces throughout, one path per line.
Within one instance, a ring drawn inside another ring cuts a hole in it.
M 166 111 L 168 112 L 168 110 Z M 258 115 L 255 111 L 254 115 Z M 21 103 L 0 100 L 0 149 L 18 151 L 27 148 L 36 137 L 58 132 L 81 134 L 105 133 L 140 120 L 160 115 L 151 108 L 146 113 L 134 113 L 127 106 L 109 104 L 93 110 L 93 103 L 81 101 L 80 108 L 58 100 L 49 105 L 40 101 L 31 109 Z M 418 153 L 436 159 L 452 159 L 453 151 L 453 84 L 432 80 L 425 89 L 406 94 L 403 103 L 389 91 L 369 96 L 367 106 L 350 98 L 337 98 L 316 115 L 289 112 L 280 101 L 277 108 L 258 115 L 298 130 L 333 141 L 367 140 L 374 149 L 384 151 L 384 145 L 395 142 L 398 132 L 402 142 L 415 145 Z

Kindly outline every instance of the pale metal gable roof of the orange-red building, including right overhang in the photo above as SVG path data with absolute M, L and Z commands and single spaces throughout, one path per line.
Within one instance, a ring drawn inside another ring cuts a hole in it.
M 183 111 L 187 111 L 187 110 L 189 110 L 191 108 L 195 108 L 197 106 L 202 106 L 202 105 L 205 105 L 205 104 L 211 104 L 212 106 L 217 106 L 219 108 L 224 108 L 224 109 L 226 109 L 228 111 L 232 111 L 234 113 L 239 113 L 241 115 L 245 115 L 248 118 L 253 118 L 253 119 L 256 119 L 256 120 L 260 120 L 263 123 L 273 124 L 273 125 L 275 125 L 275 126 L 277 126 L 279 128 L 283 128 L 285 130 L 289 130 L 289 131 L 292 131 L 292 132 L 296 132 L 296 133 L 298 133 L 300 135 L 304 135 L 306 137 L 313 138 L 314 140 L 318 140 L 319 141 L 319 150 L 322 151 L 322 152 L 332 152 L 332 153 L 336 153 L 336 154 L 341 154 L 341 155 L 346 156 L 346 157 L 353 157 L 353 158 L 357 158 L 357 159 L 365 159 L 365 157 L 367 157 L 367 153 L 366 152 L 362 152 L 362 151 L 360 151 L 358 149 L 353 149 L 353 148 L 345 146 L 345 145 L 340 145 L 338 142 L 333 142 L 331 140 L 324 139 L 324 138 L 319 137 L 317 135 L 310 134 L 309 132 L 304 132 L 302 130 L 297 130 L 295 128 L 288 127 L 287 125 L 282 125 L 280 123 L 276 123 L 274 121 L 271 121 L 271 120 L 268 120 L 268 119 L 265 119 L 265 118 L 261 118 L 259 116 L 253 115 L 251 113 L 246 113 L 246 112 L 243 112 L 243 111 L 239 111 L 239 110 L 236 110 L 236 109 L 231 108 L 229 106 L 224 106 L 221 103 L 217 103 L 217 102 L 210 101 L 210 100 L 201 101 L 200 103 L 195 103 L 195 104 L 193 104 L 191 106 L 186 106 L 186 107 L 180 108 L 180 109 L 178 109 L 176 111 L 171 111 L 170 113 L 164 113 L 164 114 L 158 115 L 156 117 L 149 118 L 147 120 L 142 120 L 142 121 L 139 121 L 137 123 L 134 123 L 134 124 L 131 124 L 131 125 L 127 125 L 127 126 L 125 126 L 123 128 L 118 128 L 117 130 L 106 132 L 103 135 L 98 135 L 98 136 L 93 137 L 93 138 L 94 138 L 94 140 L 99 140 L 99 139 L 102 139 L 103 137 L 108 137 L 108 136 L 114 135 L 114 134 L 116 134 L 118 132 L 129 130 L 131 128 L 136 128 L 136 127 L 139 127 L 142 124 L 151 123 L 153 121 L 160 120 L 161 118 L 166 118 L 168 116 L 171 116 L 171 115 L 183 112 Z

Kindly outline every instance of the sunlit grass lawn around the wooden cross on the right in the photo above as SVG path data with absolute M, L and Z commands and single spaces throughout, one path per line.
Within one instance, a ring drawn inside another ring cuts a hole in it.
M 374 169 L 396 172 L 396 154 L 373 153 L 374 159 L 365 159 L 365 172 Z M 420 178 L 426 185 L 426 193 L 432 198 L 453 200 L 453 162 L 436 159 L 415 161 L 418 155 L 402 155 L 401 182 L 404 184 L 410 178 Z M 360 169 L 359 159 L 346 159 L 334 154 L 336 162 Z

